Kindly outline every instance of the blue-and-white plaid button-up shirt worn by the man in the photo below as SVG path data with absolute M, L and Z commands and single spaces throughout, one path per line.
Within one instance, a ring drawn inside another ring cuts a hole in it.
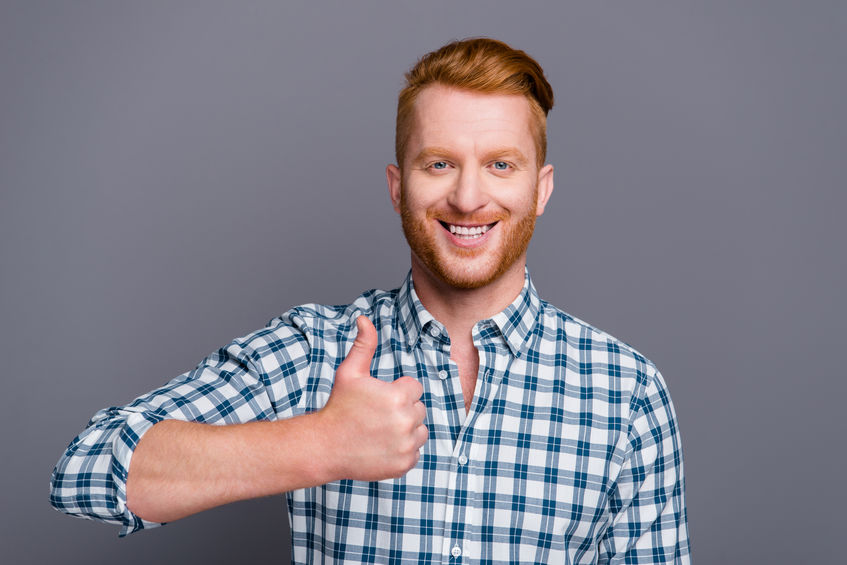
M 64 512 L 158 524 L 126 506 L 142 434 L 166 418 L 231 424 L 317 410 L 368 316 L 371 367 L 423 384 L 429 440 L 404 477 L 288 493 L 297 563 L 689 563 L 682 450 L 655 366 L 539 299 L 474 326 L 479 377 L 465 414 L 445 328 L 411 276 L 349 306 L 305 305 L 233 341 L 130 405 L 98 412 L 53 473 Z

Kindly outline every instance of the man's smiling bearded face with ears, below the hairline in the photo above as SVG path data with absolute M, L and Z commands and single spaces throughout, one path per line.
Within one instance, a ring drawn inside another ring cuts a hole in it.
M 386 170 L 413 272 L 460 289 L 504 276 L 522 284 L 553 189 L 553 167 L 536 164 L 531 120 L 520 95 L 441 85 L 419 94 L 402 170 Z

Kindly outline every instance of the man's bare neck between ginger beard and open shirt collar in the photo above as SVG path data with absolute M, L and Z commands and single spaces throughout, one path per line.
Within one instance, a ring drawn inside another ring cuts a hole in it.
M 474 324 L 503 311 L 520 294 L 525 265 L 523 255 L 495 281 L 463 289 L 436 278 L 412 255 L 412 279 L 421 304 L 444 324 L 451 340 L 470 339 Z

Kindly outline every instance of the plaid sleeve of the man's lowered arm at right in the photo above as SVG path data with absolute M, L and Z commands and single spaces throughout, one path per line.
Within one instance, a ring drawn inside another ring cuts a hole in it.
M 600 543 L 600 563 L 690 563 L 682 445 L 658 372 L 635 407 L 609 506 L 611 523 Z

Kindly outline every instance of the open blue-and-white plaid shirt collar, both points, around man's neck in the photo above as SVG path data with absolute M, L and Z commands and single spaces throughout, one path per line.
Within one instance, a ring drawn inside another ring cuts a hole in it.
M 415 293 L 411 271 L 398 291 L 397 303 L 400 330 L 405 332 L 406 343 L 410 348 L 414 348 L 422 334 L 431 331 L 433 327 L 444 332 L 444 326 L 424 308 Z M 520 294 L 506 309 L 487 320 L 480 320 L 476 327 L 496 327 L 512 355 L 519 357 L 528 346 L 540 311 L 541 299 L 532 284 L 529 269 L 524 268 L 524 285 Z

